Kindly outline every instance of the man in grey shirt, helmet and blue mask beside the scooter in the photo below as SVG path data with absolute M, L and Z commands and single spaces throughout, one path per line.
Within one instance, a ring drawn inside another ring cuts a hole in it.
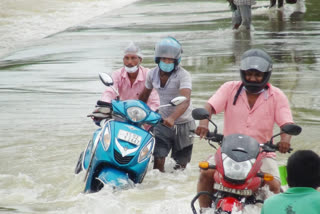
M 184 169 L 191 160 L 192 141 L 190 130 L 195 129 L 190 101 L 192 82 L 188 71 L 180 66 L 182 47 L 173 37 L 160 40 L 155 46 L 155 62 L 147 77 L 140 100 L 151 98 L 152 89 L 160 97 L 160 105 L 168 104 L 177 96 L 187 98 L 178 106 L 160 108 L 163 123 L 154 128 L 156 145 L 153 152 L 154 169 L 164 172 L 165 158 L 171 151 L 176 161 L 175 169 Z

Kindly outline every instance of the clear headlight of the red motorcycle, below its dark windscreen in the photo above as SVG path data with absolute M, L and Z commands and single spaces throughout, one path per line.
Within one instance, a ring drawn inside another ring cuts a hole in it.
M 236 162 L 225 154 L 222 156 L 225 176 L 233 180 L 245 180 L 252 168 L 252 161 Z

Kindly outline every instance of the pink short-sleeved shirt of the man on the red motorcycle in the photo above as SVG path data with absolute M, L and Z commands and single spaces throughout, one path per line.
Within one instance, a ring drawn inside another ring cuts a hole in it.
M 245 134 L 259 143 L 270 140 L 276 123 L 282 126 L 293 123 L 289 102 L 285 94 L 271 84 L 262 92 L 253 108 L 250 109 L 245 89 L 233 105 L 234 96 L 241 82 L 231 81 L 223 84 L 208 100 L 216 113 L 224 112 L 223 134 Z

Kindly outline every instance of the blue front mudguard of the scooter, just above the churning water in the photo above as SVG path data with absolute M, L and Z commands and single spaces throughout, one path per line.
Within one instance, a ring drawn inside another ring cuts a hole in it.
M 128 173 L 111 167 L 104 167 L 97 176 L 97 179 L 103 184 L 108 184 L 114 187 L 128 187 L 132 185 Z

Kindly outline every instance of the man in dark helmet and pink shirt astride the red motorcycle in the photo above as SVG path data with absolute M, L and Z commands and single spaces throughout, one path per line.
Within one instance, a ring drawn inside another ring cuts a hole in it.
M 289 102 L 285 94 L 269 83 L 272 71 L 271 57 L 260 49 L 251 49 L 242 55 L 240 74 L 242 81 L 224 83 L 208 100 L 205 108 L 210 117 L 224 112 L 224 136 L 245 134 L 265 143 L 272 137 L 274 124 L 282 127 L 293 123 Z M 202 138 L 208 132 L 208 120 L 202 120 L 196 133 Z M 285 153 L 290 148 L 290 135 L 282 134 L 278 143 L 279 151 Z M 280 176 L 275 154 L 263 160 L 261 170 L 276 179 L 266 182 L 270 191 L 280 192 Z M 213 192 L 214 170 L 202 170 L 198 182 L 198 192 Z M 199 198 L 200 207 L 210 207 L 206 196 Z

